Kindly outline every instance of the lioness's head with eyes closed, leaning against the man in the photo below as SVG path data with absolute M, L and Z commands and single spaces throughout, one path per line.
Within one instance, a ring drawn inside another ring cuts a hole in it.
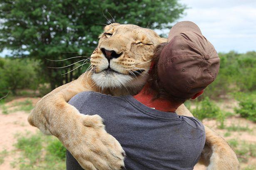
M 137 92 L 147 80 L 154 48 L 163 42 L 137 25 L 107 25 L 91 55 L 92 80 L 100 89 Z

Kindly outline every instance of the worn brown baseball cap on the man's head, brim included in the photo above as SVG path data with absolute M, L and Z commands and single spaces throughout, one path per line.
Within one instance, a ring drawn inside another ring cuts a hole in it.
M 191 98 L 216 79 L 218 53 L 194 22 L 175 24 L 168 42 L 159 56 L 157 71 L 169 94 Z

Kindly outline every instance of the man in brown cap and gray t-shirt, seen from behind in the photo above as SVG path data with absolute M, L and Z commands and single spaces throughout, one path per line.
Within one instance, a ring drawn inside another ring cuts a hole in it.
M 70 100 L 83 114 L 99 114 L 126 152 L 127 170 L 192 170 L 204 148 L 204 126 L 175 111 L 200 96 L 219 71 L 219 57 L 197 25 L 179 22 L 154 54 L 149 81 L 135 96 L 82 92 Z M 85 153 L 86 154 L 86 153 Z M 67 170 L 82 168 L 67 152 Z

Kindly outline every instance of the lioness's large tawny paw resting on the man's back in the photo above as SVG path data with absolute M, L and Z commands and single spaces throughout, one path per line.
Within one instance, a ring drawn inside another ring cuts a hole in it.
M 67 149 L 86 170 L 122 170 L 125 153 L 120 143 L 109 135 L 98 115 L 83 115 L 82 134 Z

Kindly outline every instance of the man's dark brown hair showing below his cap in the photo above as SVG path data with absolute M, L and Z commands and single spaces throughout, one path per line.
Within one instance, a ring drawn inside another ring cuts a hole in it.
M 179 97 L 175 97 L 172 96 L 171 94 L 169 94 L 165 89 L 164 86 L 162 85 L 159 76 L 158 76 L 158 72 L 157 72 L 157 63 L 159 60 L 159 56 L 162 52 L 162 49 L 164 49 L 164 47 L 167 45 L 168 43 L 162 43 L 159 44 L 155 49 L 154 49 L 154 55 L 153 55 L 153 59 L 152 62 L 154 62 L 154 66 L 151 68 L 152 70 L 150 70 L 149 73 L 149 79 L 148 79 L 148 83 L 149 83 L 149 93 L 152 93 L 154 91 L 154 99 L 167 99 L 169 101 L 171 101 L 174 104 L 182 104 L 184 103 L 187 99 L 186 98 L 179 98 Z M 175 83 L 175 82 L 173 82 Z

